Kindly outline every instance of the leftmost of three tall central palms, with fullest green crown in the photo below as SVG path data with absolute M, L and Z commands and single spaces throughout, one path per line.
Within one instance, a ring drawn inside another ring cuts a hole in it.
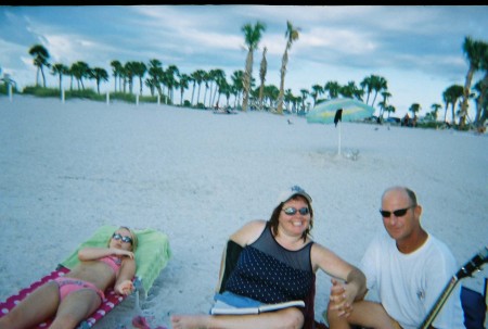
M 253 76 L 253 56 L 254 51 L 257 49 L 259 41 L 262 37 L 262 31 L 266 30 L 264 23 L 257 22 L 254 26 L 245 24 L 241 30 L 244 33 L 245 43 L 247 46 L 246 68 L 244 71 L 244 100 L 242 103 L 242 111 L 247 111 L 247 104 L 249 102 L 251 84 Z

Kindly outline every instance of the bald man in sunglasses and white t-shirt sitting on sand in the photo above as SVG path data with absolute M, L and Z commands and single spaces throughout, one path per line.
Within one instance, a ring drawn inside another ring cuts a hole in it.
M 332 309 L 343 300 L 344 288 L 331 289 L 328 319 L 331 329 L 419 328 L 434 307 L 446 284 L 458 270 L 449 248 L 421 226 L 422 206 L 406 187 L 391 187 L 382 197 L 380 211 L 387 235 L 381 232 L 368 246 L 360 268 L 367 276 L 369 299 L 351 305 L 345 316 Z M 458 286 L 433 322 L 437 329 L 464 328 Z

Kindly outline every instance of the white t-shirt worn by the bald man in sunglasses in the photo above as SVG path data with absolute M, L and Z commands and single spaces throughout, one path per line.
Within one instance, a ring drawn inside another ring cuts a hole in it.
M 459 270 L 448 246 L 432 235 L 419 250 L 402 254 L 385 231 L 368 246 L 361 269 L 368 289 L 377 294 L 383 307 L 403 329 L 420 327 Z M 460 295 L 458 284 L 437 315 L 435 328 L 465 328 Z

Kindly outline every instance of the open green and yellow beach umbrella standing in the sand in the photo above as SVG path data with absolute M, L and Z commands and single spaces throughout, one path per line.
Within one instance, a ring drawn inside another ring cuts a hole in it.
M 322 102 L 307 114 L 309 124 L 338 126 L 338 154 L 341 155 L 341 122 L 356 122 L 372 116 L 374 107 L 351 98 L 337 98 Z

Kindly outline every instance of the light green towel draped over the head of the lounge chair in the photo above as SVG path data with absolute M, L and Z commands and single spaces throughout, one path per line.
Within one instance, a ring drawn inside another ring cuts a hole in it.
M 87 241 L 82 242 L 64 262 L 62 266 L 70 269 L 78 263 L 78 251 L 87 246 L 106 246 L 108 238 L 118 229 L 118 226 L 102 226 Z M 155 229 L 134 230 L 138 236 L 138 249 L 136 250 L 136 277 L 142 280 L 144 298 L 166 267 L 172 256 L 168 237 Z

